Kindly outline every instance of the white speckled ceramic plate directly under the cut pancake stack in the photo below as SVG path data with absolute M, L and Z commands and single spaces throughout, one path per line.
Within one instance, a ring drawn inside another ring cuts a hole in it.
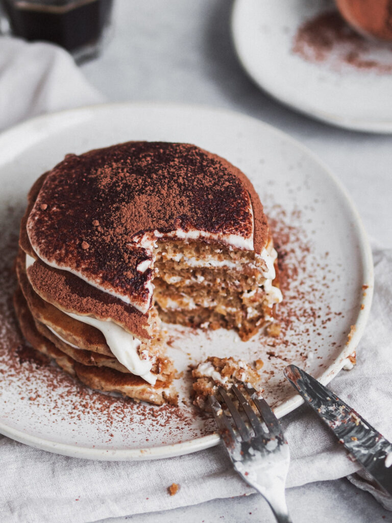
M 178 388 L 187 404 L 153 407 L 113 399 L 78 385 L 54 366 L 36 365 L 20 347 L 15 350 L 22 344 L 10 305 L 15 280 L 3 268 L 0 431 L 28 445 L 102 460 L 163 458 L 216 445 L 214 424 L 195 414 L 186 400 L 190 362 L 209 355 L 262 359 L 266 397 L 283 416 L 301 404 L 284 382 L 284 366 L 297 363 L 328 383 L 347 364 L 365 327 L 373 290 L 372 256 L 345 190 L 286 134 L 223 110 L 103 105 L 42 116 L 3 133 L 3 265 L 11 265 L 27 191 L 42 172 L 66 153 L 139 139 L 195 143 L 226 157 L 249 176 L 271 218 L 283 261 L 282 333 L 278 338 L 260 334 L 244 343 L 222 329 L 204 333 L 169 325 L 170 353 L 184 371 Z

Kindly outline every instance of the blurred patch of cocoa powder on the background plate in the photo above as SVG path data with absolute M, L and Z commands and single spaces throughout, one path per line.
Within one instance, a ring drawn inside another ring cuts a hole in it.
M 306 20 L 297 30 L 292 52 L 308 62 L 323 62 L 331 69 L 342 65 L 378 74 L 392 72 L 392 47 L 355 32 L 337 11 Z

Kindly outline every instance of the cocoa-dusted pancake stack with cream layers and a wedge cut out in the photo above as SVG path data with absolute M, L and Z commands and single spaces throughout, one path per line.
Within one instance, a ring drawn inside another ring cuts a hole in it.
M 176 403 L 160 318 L 248 339 L 282 299 L 260 200 L 194 145 L 67 155 L 29 193 L 14 297 L 21 331 L 93 389 Z

